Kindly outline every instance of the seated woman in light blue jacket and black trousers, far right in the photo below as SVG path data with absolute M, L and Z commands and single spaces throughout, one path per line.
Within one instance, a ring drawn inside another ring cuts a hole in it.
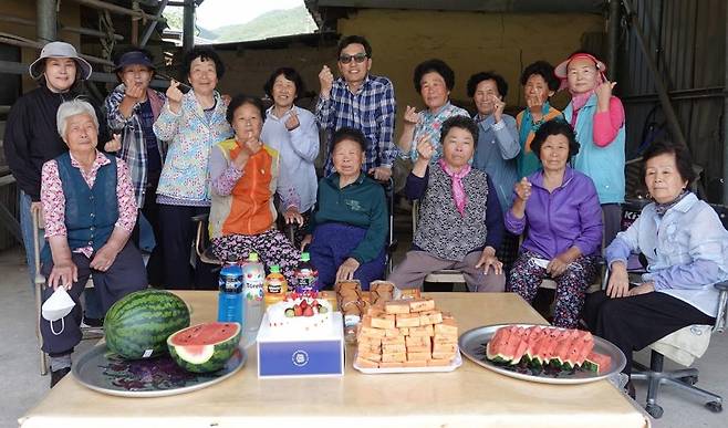
M 688 190 L 695 179 L 687 147 L 653 143 L 643 154 L 645 184 L 653 200 L 606 249 L 612 271 L 606 292 L 586 300 L 590 328 L 632 352 L 691 324 L 715 323 L 718 290 L 728 279 L 728 232 L 710 206 Z M 626 261 L 641 252 L 647 273 L 631 288 Z M 630 385 L 631 386 L 631 385 Z

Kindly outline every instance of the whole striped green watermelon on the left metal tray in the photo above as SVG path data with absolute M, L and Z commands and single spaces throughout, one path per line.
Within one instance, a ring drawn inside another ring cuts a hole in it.
M 185 302 L 168 291 L 153 289 L 119 299 L 104 319 L 106 346 L 126 359 L 166 354 L 167 337 L 187 326 Z

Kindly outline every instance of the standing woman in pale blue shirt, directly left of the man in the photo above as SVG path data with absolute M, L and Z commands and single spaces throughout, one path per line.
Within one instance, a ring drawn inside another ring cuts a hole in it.
M 313 165 L 319 156 L 319 128 L 315 117 L 305 108 L 293 104 L 305 91 L 301 75 L 293 69 L 275 70 L 263 90 L 273 98 L 266 112 L 261 139 L 278 150 L 281 156 L 281 179 L 294 186 L 305 227 L 311 209 L 316 202 L 316 169 Z M 280 206 L 282 210 L 288 207 Z M 295 243 L 301 244 L 303 229 L 297 229 Z

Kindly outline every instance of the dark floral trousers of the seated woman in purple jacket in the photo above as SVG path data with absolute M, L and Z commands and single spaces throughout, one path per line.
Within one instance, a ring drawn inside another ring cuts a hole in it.
M 508 282 L 509 291 L 520 294 L 529 303 L 533 302 L 541 282 L 549 279 L 545 269 L 535 264 L 534 258 L 543 259 L 532 251 L 523 251 L 513 263 Z M 564 273 L 553 279 L 557 282 L 553 325 L 565 328 L 576 327 L 586 289 L 594 280 L 597 267 L 596 255 L 582 255 L 571 262 Z

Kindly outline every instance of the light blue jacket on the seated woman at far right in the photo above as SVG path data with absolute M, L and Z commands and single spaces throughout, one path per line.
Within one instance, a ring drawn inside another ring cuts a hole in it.
M 728 279 L 728 231 L 716 211 L 694 194 L 687 195 L 662 218 L 649 203 L 630 229 L 606 249 L 606 260 L 626 262 L 631 252 L 647 258 L 643 281 L 710 316 L 718 313 L 718 290 Z

